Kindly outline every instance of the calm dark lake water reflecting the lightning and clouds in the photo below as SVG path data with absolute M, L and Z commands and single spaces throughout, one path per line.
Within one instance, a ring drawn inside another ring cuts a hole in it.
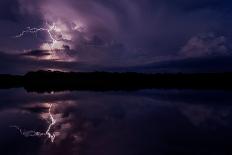
M 0 154 L 232 154 L 232 92 L 0 90 Z

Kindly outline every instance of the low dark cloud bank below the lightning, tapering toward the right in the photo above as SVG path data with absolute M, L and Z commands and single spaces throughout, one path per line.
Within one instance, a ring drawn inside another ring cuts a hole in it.
M 32 70 L 63 70 L 63 71 L 94 71 L 99 66 L 85 62 L 65 62 L 56 60 L 41 60 L 25 57 L 19 54 L 7 54 L 0 52 L 1 74 L 25 74 Z

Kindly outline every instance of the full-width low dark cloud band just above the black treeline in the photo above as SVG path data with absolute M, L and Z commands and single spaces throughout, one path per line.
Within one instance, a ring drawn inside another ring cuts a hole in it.
M 62 71 L 110 71 L 110 72 L 229 72 L 232 68 L 232 56 L 202 56 L 162 60 L 146 65 L 113 65 L 89 64 L 88 62 L 65 62 L 41 60 L 22 55 L 0 53 L 1 74 L 25 74 L 33 70 Z M 110 63 L 110 62 L 108 62 Z M 135 63 L 136 64 L 136 63 Z

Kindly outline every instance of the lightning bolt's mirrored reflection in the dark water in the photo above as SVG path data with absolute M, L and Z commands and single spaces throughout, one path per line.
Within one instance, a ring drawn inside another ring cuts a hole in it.
M 48 125 L 48 128 L 46 130 L 46 132 L 38 132 L 38 131 L 34 131 L 34 130 L 22 130 L 20 127 L 18 126 L 10 126 L 11 128 L 15 128 L 19 131 L 19 133 L 21 135 L 23 135 L 24 137 L 42 137 L 42 136 L 46 136 L 48 139 L 50 139 L 50 141 L 53 143 L 55 140 L 55 133 L 51 133 L 51 128 L 52 126 L 54 126 L 56 124 L 56 120 L 54 119 L 52 113 L 51 113 L 51 108 L 52 108 L 52 104 L 49 105 L 49 117 L 50 117 L 50 124 Z

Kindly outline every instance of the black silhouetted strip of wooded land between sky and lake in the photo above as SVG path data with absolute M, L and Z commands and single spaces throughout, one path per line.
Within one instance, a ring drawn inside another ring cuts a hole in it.
M 0 74 L 0 89 L 25 88 L 28 92 L 65 90 L 221 89 L 232 90 L 227 73 L 112 73 L 36 71 L 23 76 Z

